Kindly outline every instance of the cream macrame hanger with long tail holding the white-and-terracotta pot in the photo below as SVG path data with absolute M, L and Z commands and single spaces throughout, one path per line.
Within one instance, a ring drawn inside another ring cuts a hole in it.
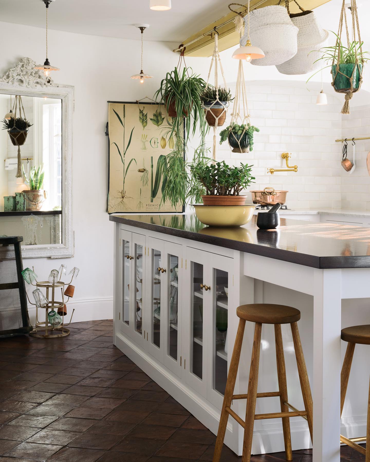
M 205 86 L 204 92 L 207 91 L 209 81 L 210 81 L 210 75 L 212 71 L 213 65 L 215 65 L 215 89 L 216 89 L 216 100 L 213 101 L 213 103 L 210 106 L 205 106 L 203 104 L 203 109 L 206 113 L 206 116 L 208 113 L 210 113 L 210 121 L 214 123 L 213 125 L 213 149 L 212 149 L 212 155 L 213 155 L 213 163 L 216 162 L 216 152 L 217 152 L 217 127 L 219 127 L 218 122 L 220 120 L 220 126 L 223 124 L 226 118 L 226 113 L 228 110 L 228 102 L 221 101 L 219 99 L 219 94 L 218 94 L 218 66 L 220 66 L 220 71 L 222 75 L 222 80 L 223 80 L 223 86 L 225 88 L 225 91 L 228 91 L 228 85 L 226 83 L 225 75 L 223 73 L 223 67 L 222 67 L 222 62 L 220 58 L 220 53 L 218 52 L 218 32 L 216 30 L 216 27 L 214 28 L 215 30 L 215 48 L 213 50 L 213 55 L 210 63 L 210 72 L 208 73 L 208 79 L 207 79 L 207 84 Z M 222 108 L 222 109 L 221 109 Z M 213 110 L 212 110 L 213 109 Z M 221 109 L 221 111 L 220 111 Z

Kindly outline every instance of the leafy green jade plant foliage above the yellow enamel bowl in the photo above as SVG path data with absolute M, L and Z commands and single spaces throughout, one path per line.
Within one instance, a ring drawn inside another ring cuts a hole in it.
M 206 195 L 238 196 L 255 180 L 253 165 L 230 167 L 225 161 L 216 164 L 198 162 L 191 165 L 191 173 L 203 185 Z

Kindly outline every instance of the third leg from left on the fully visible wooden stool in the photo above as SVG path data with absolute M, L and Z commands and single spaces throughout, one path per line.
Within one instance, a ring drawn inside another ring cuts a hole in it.
M 284 360 L 283 337 L 281 334 L 281 324 L 275 324 L 275 348 L 276 348 L 276 365 L 277 365 L 277 382 L 280 392 L 281 412 L 289 412 L 289 407 L 284 404 L 288 401 L 288 388 L 286 384 L 286 371 Z M 292 444 L 290 439 L 290 419 L 283 417 L 283 434 L 285 445 L 285 457 L 287 461 L 293 460 Z

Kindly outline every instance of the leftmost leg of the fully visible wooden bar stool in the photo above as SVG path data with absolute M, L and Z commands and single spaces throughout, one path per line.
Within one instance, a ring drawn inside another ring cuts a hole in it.
M 220 423 L 218 426 L 217 439 L 216 439 L 216 445 L 215 445 L 215 452 L 213 454 L 213 462 L 219 462 L 221 453 L 222 453 L 223 440 L 225 438 L 225 432 L 226 432 L 226 427 L 228 425 L 228 415 L 229 415 L 228 412 L 226 412 L 225 408 L 231 407 L 231 401 L 233 399 L 234 387 L 235 387 L 236 376 L 238 373 L 241 345 L 243 343 L 245 325 L 246 325 L 245 320 L 240 319 L 238 331 L 236 333 L 236 338 L 235 338 L 235 343 L 234 343 L 233 355 L 231 357 L 230 367 L 228 370 L 228 379 L 226 381 L 225 395 L 223 397 Z

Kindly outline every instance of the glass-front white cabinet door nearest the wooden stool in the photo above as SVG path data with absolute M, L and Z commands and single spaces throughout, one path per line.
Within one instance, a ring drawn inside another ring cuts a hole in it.
M 210 335 L 208 337 L 207 400 L 221 409 L 228 377 L 228 307 L 236 309 L 232 297 L 233 259 L 208 254 L 208 294 L 211 304 Z M 229 291 L 230 288 L 230 291 Z M 230 352 L 230 358 L 231 358 Z

